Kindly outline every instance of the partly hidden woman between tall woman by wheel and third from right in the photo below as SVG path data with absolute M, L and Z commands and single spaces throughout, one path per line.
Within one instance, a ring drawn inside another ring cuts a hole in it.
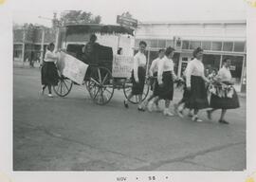
M 164 57 L 164 52 L 165 49 L 159 49 L 158 57 L 155 60 L 153 60 L 149 69 L 149 76 L 151 78 L 151 89 L 153 91 L 153 94 L 147 100 L 144 101 L 143 105 L 144 107 L 148 106 L 150 112 L 153 110 L 160 111 L 158 101 L 153 101 L 152 103 L 150 101 L 158 97 L 159 86 L 157 82 L 157 70 L 159 62 L 161 62 L 162 58 Z

